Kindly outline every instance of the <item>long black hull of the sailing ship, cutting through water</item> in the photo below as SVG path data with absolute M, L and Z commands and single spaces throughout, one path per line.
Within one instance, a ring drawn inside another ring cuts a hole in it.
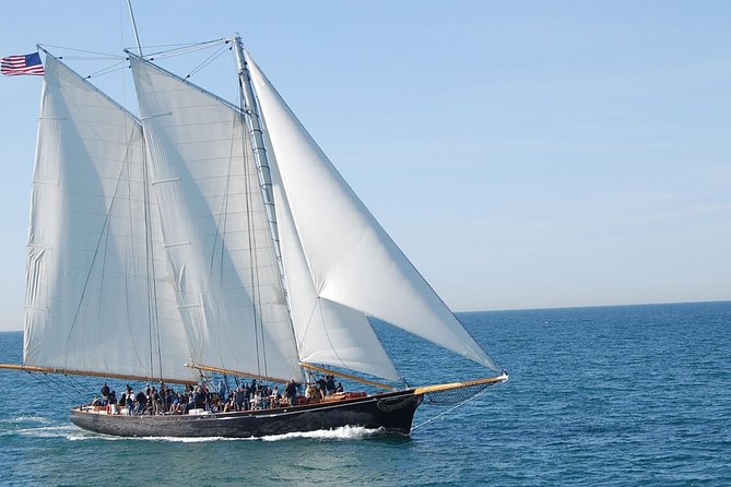
M 278 409 L 208 415 L 127 416 L 71 409 L 80 428 L 120 437 L 250 438 L 342 426 L 409 435 L 423 395 L 413 390 Z

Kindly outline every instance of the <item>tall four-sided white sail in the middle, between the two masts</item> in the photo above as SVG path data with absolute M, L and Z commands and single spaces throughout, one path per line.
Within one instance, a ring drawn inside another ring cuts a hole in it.
M 241 114 L 130 56 L 167 257 L 196 363 L 300 378 Z

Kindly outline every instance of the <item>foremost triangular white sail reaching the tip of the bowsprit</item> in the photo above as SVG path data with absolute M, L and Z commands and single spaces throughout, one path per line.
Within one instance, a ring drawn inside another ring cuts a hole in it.
M 317 295 L 499 370 L 376 222 L 263 73 L 251 61 L 249 67 Z

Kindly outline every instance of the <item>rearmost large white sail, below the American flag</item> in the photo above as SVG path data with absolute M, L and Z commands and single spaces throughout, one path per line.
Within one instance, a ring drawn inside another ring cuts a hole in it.
M 154 201 L 144 210 L 143 162 L 139 121 L 48 56 L 28 231 L 26 365 L 194 380 L 184 366 L 190 354 L 173 287 L 164 275 L 152 278 L 164 261 L 160 234 L 150 233 L 158 225 Z

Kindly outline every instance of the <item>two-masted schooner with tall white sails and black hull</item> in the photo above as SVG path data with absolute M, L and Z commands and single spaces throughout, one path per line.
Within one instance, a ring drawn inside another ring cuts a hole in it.
M 40 48 L 23 365 L 0 367 L 181 384 L 207 373 L 302 383 L 319 371 L 385 389 L 276 409 L 70 412 L 84 429 L 139 437 L 408 435 L 425 399 L 506 381 L 240 38 L 226 41 L 239 104 L 127 50 L 139 117 Z M 494 373 L 409 387 L 372 318 Z

